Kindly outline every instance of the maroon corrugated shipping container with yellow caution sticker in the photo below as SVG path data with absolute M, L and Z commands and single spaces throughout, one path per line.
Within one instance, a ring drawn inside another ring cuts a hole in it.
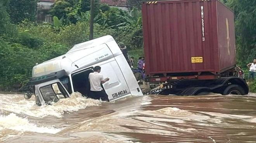
M 142 4 L 146 74 L 235 67 L 234 13 L 217 0 Z

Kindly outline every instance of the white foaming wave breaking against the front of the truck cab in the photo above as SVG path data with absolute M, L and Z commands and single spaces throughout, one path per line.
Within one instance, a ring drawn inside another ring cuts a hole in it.
M 5 98 L 0 100 L 0 110 L 16 114 L 26 114 L 38 118 L 46 116 L 61 118 L 65 112 L 72 113 L 89 106 L 100 106 L 102 102 L 104 102 L 84 98 L 80 93 L 73 93 L 70 98 L 61 99 L 57 103 L 53 103 L 52 106 L 37 106 L 34 99 L 26 100 L 22 97 L 23 99 L 17 100 L 20 98 L 20 95 L 11 95 L 9 99 Z

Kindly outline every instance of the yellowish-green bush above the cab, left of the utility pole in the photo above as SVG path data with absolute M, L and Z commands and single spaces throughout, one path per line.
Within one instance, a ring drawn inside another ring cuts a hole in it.
M 38 39 L 63 43 L 70 48 L 74 44 L 85 42 L 89 39 L 89 24 L 87 22 L 77 22 L 76 24 L 57 28 L 51 25 L 38 25 L 33 22 L 23 21 L 18 29 L 21 33 L 26 31 Z

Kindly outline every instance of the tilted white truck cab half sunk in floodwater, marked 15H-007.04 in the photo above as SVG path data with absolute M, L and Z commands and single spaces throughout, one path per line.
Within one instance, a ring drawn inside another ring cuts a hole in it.
M 118 44 L 107 35 L 76 44 L 66 54 L 34 66 L 29 86 L 33 87 L 36 104 L 57 102 L 69 98 L 73 92 L 87 96 L 90 91 L 88 76 L 95 66 L 100 66 L 100 74 L 110 79 L 102 84 L 109 101 L 143 95 Z M 24 98 L 31 98 L 31 94 L 28 95 Z

